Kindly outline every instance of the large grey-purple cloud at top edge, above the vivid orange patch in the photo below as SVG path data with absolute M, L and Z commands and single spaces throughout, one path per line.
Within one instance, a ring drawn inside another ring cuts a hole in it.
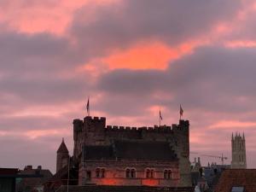
M 69 31 L 84 55 L 101 56 L 138 41 L 160 40 L 180 44 L 209 32 L 220 20 L 229 20 L 240 1 L 131 0 L 79 9 Z M 88 15 L 90 15 L 88 20 Z M 86 18 L 86 19 L 84 19 Z

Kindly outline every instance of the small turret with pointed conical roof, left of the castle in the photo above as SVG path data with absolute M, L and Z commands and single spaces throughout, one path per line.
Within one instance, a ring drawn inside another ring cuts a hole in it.
M 57 150 L 56 172 L 59 172 L 62 167 L 67 166 L 68 157 L 69 157 L 69 154 L 68 154 L 67 146 L 64 143 L 64 138 L 62 138 L 61 145 Z

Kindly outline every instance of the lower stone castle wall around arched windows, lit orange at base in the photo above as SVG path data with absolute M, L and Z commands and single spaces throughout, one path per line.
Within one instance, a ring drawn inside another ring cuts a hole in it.
M 104 169 L 105 177 L 96 177 L 96 169 Z M 125 170 L 135 169 L 136 177 L 126 178 Z M 146 177 L 146 170 L 153 169 L 153 177 Z M 90 179 L 86 178 L 86 171 L 91 172 Z M 171 170 L 172 178 L 166 179 L 164 171 Z M 80 175 L 84 176 L 80 180 L 80 185 L 149 185 L 149 186 L 169 186 L 175 187 L 180 180 L 178 163 L 170 161 L 137 161 L 137 160 L 117 160 L 117 161 L 85 161 L 79 168 Z

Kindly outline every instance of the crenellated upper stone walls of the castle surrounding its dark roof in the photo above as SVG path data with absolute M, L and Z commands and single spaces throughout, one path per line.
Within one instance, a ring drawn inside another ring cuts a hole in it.
M 191 186 L 189 162 L 189 120 L 180 120 L 172 126 L 125 127 L 106 125 L 105 117 L 73 120 L 73 160 L 81 163 L 86 146 L 110 146 L 114 140 L 139 143 L 169 143 L 178 158 L 179 187 Z M 108 175 L 108 173 L 107 173 Z

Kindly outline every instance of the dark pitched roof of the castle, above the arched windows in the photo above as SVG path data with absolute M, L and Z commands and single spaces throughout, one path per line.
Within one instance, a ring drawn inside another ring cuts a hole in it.
M 113 141 L 108 146 L 84 146 L 84 160 L 177 160 L 165 142 Z

